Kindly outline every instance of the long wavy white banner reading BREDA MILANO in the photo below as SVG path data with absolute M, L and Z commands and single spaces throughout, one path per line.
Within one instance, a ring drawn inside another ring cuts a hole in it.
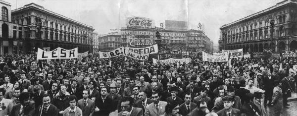
M 100 58 L 114 58 L 121 55 L 138 59 L 138 60 L 148 60 L 149 54 L 158 53 L 158 45 L 152 45 L 146 48 L 130 48 L 130 47 L 120 47 L 110 52 L 99 52 Z

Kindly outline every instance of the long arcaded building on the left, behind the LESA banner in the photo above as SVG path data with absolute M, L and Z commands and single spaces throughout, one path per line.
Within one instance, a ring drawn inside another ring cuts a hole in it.
M 50 50 L 57 47 L 78 47 L 79 53 L 93 52 L 92 26 L 52 12 L 38 4 L 30 3 L 12 10 L 11 21 L 23 26 L 23 54 L 33 54 L 38 48 L 48 47 Z

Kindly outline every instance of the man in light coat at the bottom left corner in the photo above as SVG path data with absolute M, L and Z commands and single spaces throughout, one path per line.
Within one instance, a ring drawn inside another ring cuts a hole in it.
M 12 100 L 3 98 L 4 94 L 5 94 L 4 88 L 0 88 L 0 103 L 1 103 L 0 108 L 2 108 L 2 110 L 0 111 L 0 116 L 7 116 L 11 114 L 11 110 L 13 106 Z

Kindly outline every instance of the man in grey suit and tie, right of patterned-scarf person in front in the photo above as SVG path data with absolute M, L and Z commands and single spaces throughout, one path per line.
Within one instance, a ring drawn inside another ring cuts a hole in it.
M 89 99 L 90 92 L 83 90 L 83 99 L 77 102 L 77 106 L 82 110 L 83 116 L 92 116 L 95 110 L 95 102 Z

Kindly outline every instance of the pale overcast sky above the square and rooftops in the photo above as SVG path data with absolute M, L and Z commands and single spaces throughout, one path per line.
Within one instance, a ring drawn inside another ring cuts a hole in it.
M 188 21 L 189 29 L 203 23 L 206 35 L 218 43 L 220 27 L 282 0 L 5 0 L 11 9 L 34 2 L 44 8 L 93 26 L 106 34 L 125 26 L 130 16 L 148 17 L 155 25 L 165 20 Z

